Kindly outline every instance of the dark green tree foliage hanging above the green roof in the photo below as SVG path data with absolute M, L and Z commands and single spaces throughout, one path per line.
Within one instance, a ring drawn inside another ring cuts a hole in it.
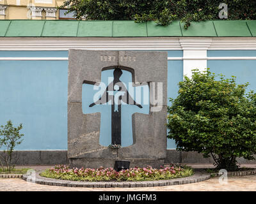
M 220 3 L 228 5 L 228 20 L 256 19 L 256 1 L 251 0 L 67 0 L 60 8 L 74 11 L 77 19 L 156 20 L 161 25 L 182 20 L 188 28 L 191 21 L 219 19 Z

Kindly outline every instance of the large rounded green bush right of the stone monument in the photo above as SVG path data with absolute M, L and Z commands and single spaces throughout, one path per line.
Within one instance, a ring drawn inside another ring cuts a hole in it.
M 168 107 L 168 138 L 177 150 L 212 156 L 218 168 L 235 170 L 236 157 L 256 154 L 256 94 L 246 94 L 248 84 L 224 78 L 209 69 L 193 70 L 179 83 L 179 96 Z

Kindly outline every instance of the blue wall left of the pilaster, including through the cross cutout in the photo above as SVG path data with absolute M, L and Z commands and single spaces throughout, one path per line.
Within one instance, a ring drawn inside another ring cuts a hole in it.
M 182 50 L 169 51 L 168 57 L 182 57 L 182 53 Z M 68 57 L 68 52 L 0 51 L 0 57 Z M 182 61 L 168 61 L 168 98 L 177 96 L 182 67 Z M 24 142 L 17 150 L 67 149 L 67 71 L 67 61 L 0 61 L 0 124 L 6 124 L 10 119 L 16 126 L 21 122 L 24 125 Z M 102 81 L 111 75 L 113 70 L 103 71 Z M 131 82 L 131 73 L 123 71 L 121 80 Z M 141 91 L 143 94 L 143 89 Z M 86 108 L 92 103 L 86 93 L 93 95 L 94 92 L 92 85 L 83 85 L 83 112 L 102 113 L 100 128 L 104 132 L 100 135 L 100 143 L 109 145 L 110 107 Z M 148 113 L 148 108 L 147 105 L 143 109 L 129 105 L 122 107 L 123 146 L 132 145 L 132 113 Z M 168 139 L 168 149 L 174 148 L 175 143 Z

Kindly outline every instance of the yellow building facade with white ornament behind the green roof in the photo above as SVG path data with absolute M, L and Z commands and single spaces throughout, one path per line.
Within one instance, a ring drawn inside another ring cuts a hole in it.
M 58 20 L 72 19 L 72 13 L 58 10 L 65 0 L 0 0 L 0 20 L 35 19 Z

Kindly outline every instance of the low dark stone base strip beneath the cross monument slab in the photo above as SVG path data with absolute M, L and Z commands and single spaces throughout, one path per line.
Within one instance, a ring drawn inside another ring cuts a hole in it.
M 71 167 L 81 168 L 114 168 L 115 161 L 120 160 L 116 159 L 104 159 L 104 158 L 83 158 L 83 159 L 69 159 L 69 164 Z M 147 165 L 152 166 L 153 168 L 160 168 L 164 164 L 164 159 L 129 159 L 122 158 L 122 160 L 131 161 L 130 168 L 138 167 L 147 167 Z

